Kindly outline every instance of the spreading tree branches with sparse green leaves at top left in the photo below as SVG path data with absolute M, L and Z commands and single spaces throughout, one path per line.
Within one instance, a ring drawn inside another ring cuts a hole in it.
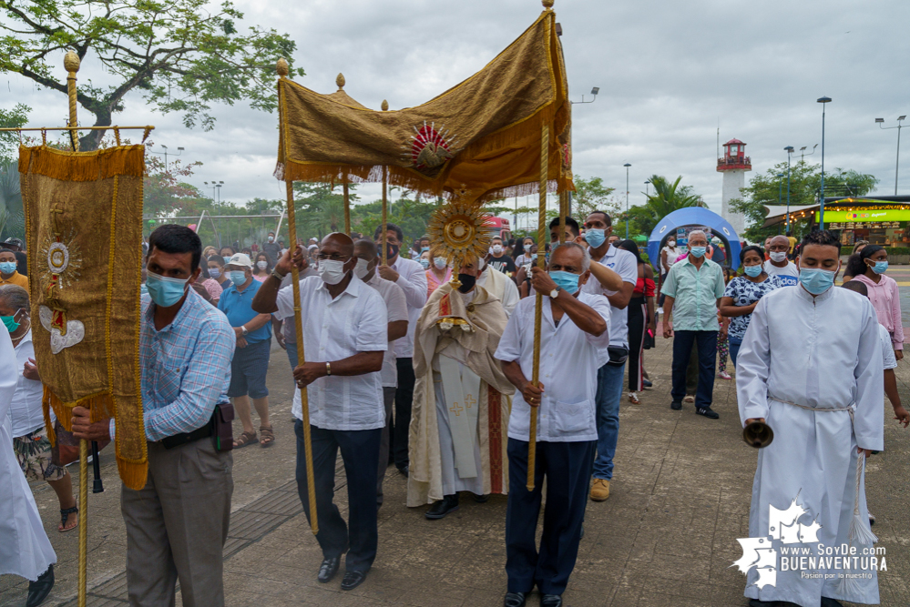
M 238 33 L 243 18 L 230 3 L 205 0 L 0 0 L 0 72 L 31 78 L 66 95 L 59 54 L 73 49 L 107 73 L 105 83 L 78 86 L 78 103 L 109 126 L 139 89 L 146 105 L 179 112 L 187 127 L 214 126 L 212 102 L 249 101 L 255 109 L 276 105 L 275 62 L 290 59 L 296 45 L 274 29 L 253 26 Z M 293 74 L 303 76 L 302 69 Z M 83 149 L 96 149 L 105 131 L 89 131 Z

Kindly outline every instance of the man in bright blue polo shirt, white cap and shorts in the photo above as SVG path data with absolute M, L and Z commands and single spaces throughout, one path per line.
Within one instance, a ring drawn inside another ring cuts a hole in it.
M 228 396 L 243 424 L 243 433 L 234 440 L 234 449 L 259 442 L 261 447 L 271 447 L 275 432 L 269 421 L 269 389 L 265 385 L 271 352 L 271 315 L 258 314 L 252 309 L 253 298 L 261 287 L 252 277 L 252 262 L 244 253 L 231 256 L 225 272 L 230 287 L 221 292 L 218 309 L 228 317 L 237 338 L 237 349 L 230 361 L 230 389 Z M 256 436 L 250 412 L 250 399 L 260 419 L 260 436 Z

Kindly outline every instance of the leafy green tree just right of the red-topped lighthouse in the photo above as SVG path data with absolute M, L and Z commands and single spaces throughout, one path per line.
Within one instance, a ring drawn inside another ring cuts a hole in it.
M 784 177 L 779 178 L 778 175 Z M 781 226 L 762 228 L 767 214 L 765 207 L 787 204 L 787 163 L 782 162 L 769 168 L 764 173 L 750 179 L 749 185 L 743 187 L 741 198 L 733 198 L 730 208 L 745 216 L 749 228 L 741 235 L 752 241 L 762 241 L 768 236 L 779 234 Z M 878 179 L 873 175 L 854 170 L 844 171 L 835 168 L 824 174 L 824 195 L 831 196 L 865 196 L 871 192 Z M 792 163 L 790 167 L 790 205 L 799 207 L 818 203 L 822 187 L 822 167 L 803 160 Z M 791 224 L 793 236 L 801 238 L 814 218 L 794 220 Z

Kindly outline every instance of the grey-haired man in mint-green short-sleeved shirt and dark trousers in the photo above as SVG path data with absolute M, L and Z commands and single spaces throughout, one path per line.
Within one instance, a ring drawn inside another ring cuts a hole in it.
M 705 258 L 708 238 L 701 230 L 689 234 L 689 255 L 673 264 L 667 274 L 663 293 L 663 336 L 673 339 L 673 398 L 670 409 L 682 409 L 686 396 L 686 367 L 692 344 L 698 347 L 699 383 L 695 393 L 695 412 L 709 420 L 720 416 L 711 409 L 714 394 L 714 367 L 718 331 L 726 331 L 717 319 L 723 297 L 723 270 Z

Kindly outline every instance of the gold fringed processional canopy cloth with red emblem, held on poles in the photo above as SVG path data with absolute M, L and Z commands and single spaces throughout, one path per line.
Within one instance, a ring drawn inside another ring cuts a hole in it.
M 282 78 L 275 175 L 295 181 L 382 181 L 468 201 L 537 192 L 550 127 L 549 189 L 574 189 L 571 104 L 546 10 L 484 69 L 421 106 L 374 111 Z

